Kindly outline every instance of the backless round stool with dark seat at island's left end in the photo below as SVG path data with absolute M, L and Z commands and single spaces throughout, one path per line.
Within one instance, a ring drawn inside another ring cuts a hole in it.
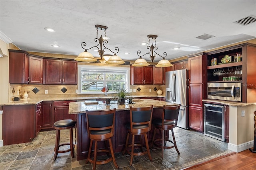
M 72 119 L 64 119 L 54 123 L 54 128 L 56 129 L 56 140 L 54 148 L 54 161 L 57 159 L 58 153 L 65 153 L 71 151 L 71 156 L 74 158 L 74 144 L 73 144 L 73 127 L 76 125 L 76 121 Z M 60 130 L 69 129 L 70 143 L 60 144 Z M 70 149 L 59 150 L 60 146 L 70 145 Z

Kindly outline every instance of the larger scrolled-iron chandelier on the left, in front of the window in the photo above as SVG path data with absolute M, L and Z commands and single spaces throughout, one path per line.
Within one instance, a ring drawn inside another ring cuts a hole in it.
M 84 50 L 84 52 L 80 53 L 75 60 L 76 61 L 84 61 L 84 62 L 94 62 L 97 61 L 96 58 L 94 58 L 94 56 L 89 53 L 87 50 L 88 49 L 92 49 L 94 47 L 98 48 L 98 53 L 100 55 L 100 62 L 101 63 L 107 63 L 107 64 L 123 64 L 124 61 L 118 56 L 116 55 L 116 53 L 118 53 L 119 49 L 118 47 L 115 47 L 115 52 L 112 51 L 111 49 L 109 49 L 108 47 L 105 46 L 106 43 L 108 43 L 108 40 L 106 39 L 106 30 L 108 29 L 108 27 L 106 26 L 101 26 L 101 25 L 95 25 L 95 28 L 97 30 L 96 33 L 96 38 L 94 39 L 95 42 L 98 42 L 98 45 L 90 47 L 90 48 L 85 48 L 86 43 L 82 42 L 81 46 Z M 98 30 L 104 30 L 105 32 L 105 37 L 103 38 L 102 36 L 100 36 L 100 38 L 98 38 Z M 103 48 L 103 49 L 102 49 Z M 114 55 L 111 55 L 111 57 L 106 61 L 105 57 L 104 57 L 104 50 L 108 49 L 109 51 L 111 51 L 112 53 L 114 53 Z M 103 59 L 102 59 L 103 57 Z

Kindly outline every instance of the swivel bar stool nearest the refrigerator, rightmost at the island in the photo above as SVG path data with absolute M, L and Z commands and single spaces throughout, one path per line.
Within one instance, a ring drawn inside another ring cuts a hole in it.
M 175 147 L 178 154 L 180 154 L 180 152 L 177 148 L 177 145 L 176 145 L 174 132 L 173 132 L 173 128 L 175 128 L 177 126 L 179 111 L 180 111 L 180 105 L 164 106 L 163 113 L 162 113 L 162 119 L 154 119 L 152 121 L 152 124 L 155 127 L 153 139 L 152 139 L 152 145 L 154 143 L 157 147 L 162 148 L 162 158 L 164 157 L 164 149 L 170 149 L 170 148 Z M 162 138 L 155 139 L 156 129 L 159 129 L 162 132 Z M 173 141 L 169 140 L 165 136 L 165 134 L 166 134 L 165 132 L 166 131 L 169 132 L 169 130 L 172 131 Z M 159 143 L 157 141 L 162 141 L 162 142 Z M 171 142 L 172 145 L 166 146 L 167 141 Z

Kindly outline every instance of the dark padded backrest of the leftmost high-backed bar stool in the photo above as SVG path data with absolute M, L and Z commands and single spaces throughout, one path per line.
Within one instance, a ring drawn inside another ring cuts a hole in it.
M 102 111 L 86 111 L 88 136 L 92 134 L 92 130 L 109 130 L 114 136 L 116 109 Z M 95 134 L 95 133 L 93 133 Z

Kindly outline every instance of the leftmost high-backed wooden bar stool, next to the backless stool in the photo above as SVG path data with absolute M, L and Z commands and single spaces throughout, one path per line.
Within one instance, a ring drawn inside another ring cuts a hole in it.
M 106 164 L 113 160 L 114 165 L 118 168 L 116 159 L 114 156 L 113 146 L 111 138 L 114 136 L 114 125 L 115 125 L 116 109 L 102 110 L 102 111 L 86 111 L 87 119 L 87 130 L 90 138 L 90 146 L 88 151 L 88 158 L 86 163 L 91 162 L 93 164 L 93 170 L 96 169 L 96 164 Z M 92 143 L 94 141 L 94 158 L 90 158 L 92 152 Z M 98 149 L 97 144 L 99 141 L 105 141 L 105 149 Z M 107 148 L 106 142 L 109 143 L 109 149 Z M 111 153 L 106 160 L 97 160 L 98 152 Z

